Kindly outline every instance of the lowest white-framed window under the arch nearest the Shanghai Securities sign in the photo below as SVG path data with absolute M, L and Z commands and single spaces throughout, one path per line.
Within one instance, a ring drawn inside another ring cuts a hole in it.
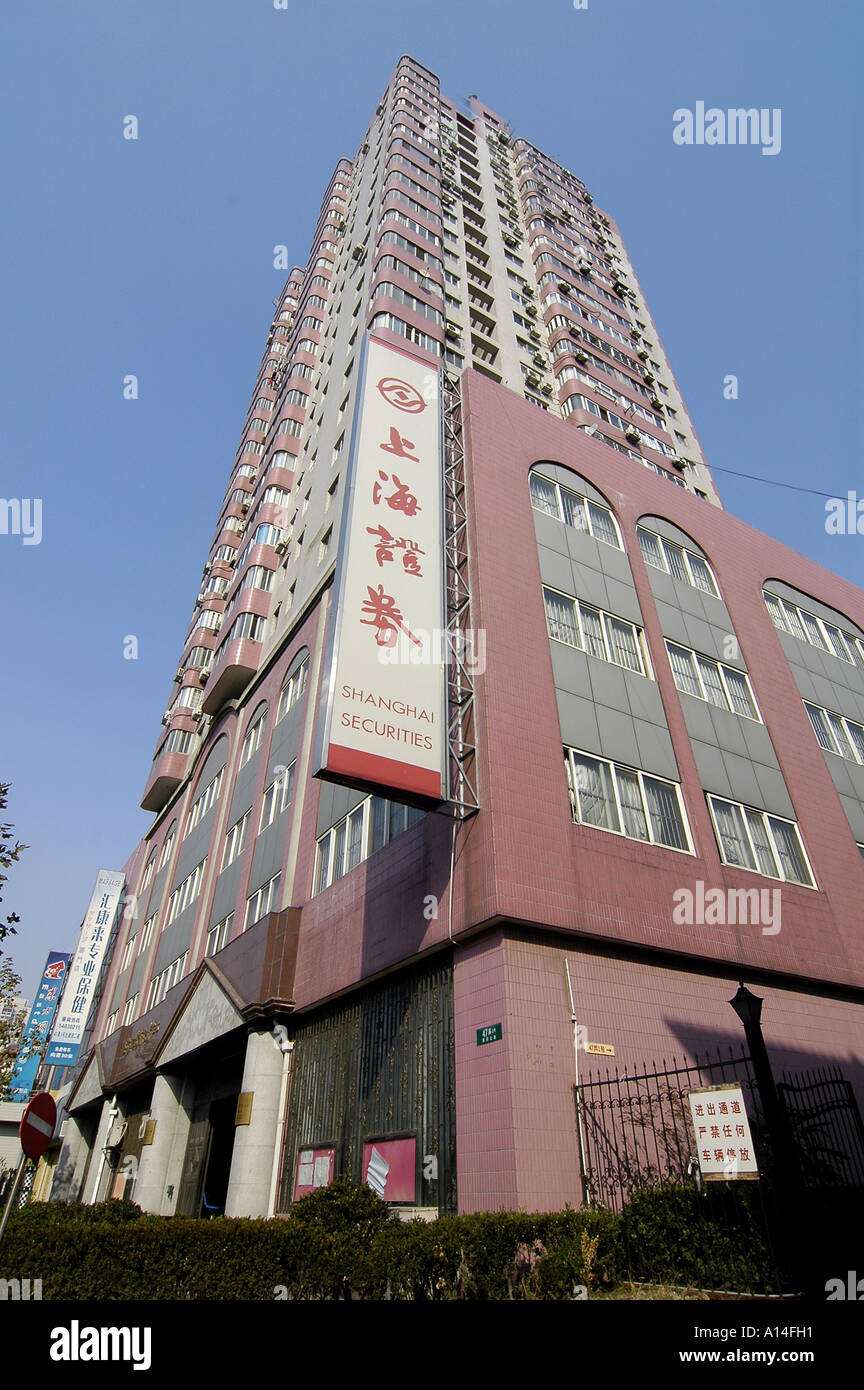
M 575 748 L 564 748 L 564 762 L 579 824 L 692 853 L 678 783 Z

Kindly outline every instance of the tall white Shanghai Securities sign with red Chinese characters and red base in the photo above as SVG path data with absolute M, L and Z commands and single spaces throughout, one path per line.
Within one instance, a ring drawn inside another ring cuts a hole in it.
M 318 776 L 440 801 L 447 730 L 440 374 L 368 336 Z

